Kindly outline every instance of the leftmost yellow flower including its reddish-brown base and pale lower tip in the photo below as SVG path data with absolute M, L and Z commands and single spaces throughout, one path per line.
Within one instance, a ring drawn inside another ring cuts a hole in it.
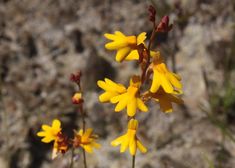
M 44 137 L 41 141 L 44 143 L 50 143 L 54 141 L 52 159 L 54 159 L 58 153 L 65 153 L 68 150 L 68 139 L 61 133 L 61 123 L 55 119 L 52 122 L 52 126 L 42 125 L 42 130 L 37 133 L 37 136 Z

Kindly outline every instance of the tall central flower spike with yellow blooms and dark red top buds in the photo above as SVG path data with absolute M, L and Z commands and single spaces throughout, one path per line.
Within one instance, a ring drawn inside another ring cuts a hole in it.
M 120 31 L 116 31 L 114 34 L 104 34 L 108 40 L 111 40 L 105 45 L 105 48 L 117 51 L 117 62 L 138 60 L 141 69 L 140 75 L 131 76 L 129 86 L 116 83 L 108 78 L 97 82 L 97 85 L 104 90 L 99 96 L 99 101 L 116 104 L 114 111 L 126 110 L 129 117 L 127 132 L 112 141 L 111 145 L 121 145 L 120 152 L 129 148 L 129 152 L 133 156 L 137 149 L 142 153 L 147 151 L 137 138 L 138 121 L 135 119 L 137 111 L 147 112 L 147 103 L 151 100 L 158 102 L 160 109 L 166 113 L 173 111 L 172 103 L 183 103 L 179 97 L 182 94 L 181 77 L 168 69 L 160 51 L 151 50 L 157 33 L 167 33 L 172 29 L 168 16 L 164 16 L 159 24 L 156 24 L 155 15 L 156 10 L 150 6 L 149 20 L 153 23 L 153 31 L 148 45 L 145 44 L 147 39 L 145 32 L 138 36 L 127 36 Z M 151 85 L 149 86 L 148 83 Z

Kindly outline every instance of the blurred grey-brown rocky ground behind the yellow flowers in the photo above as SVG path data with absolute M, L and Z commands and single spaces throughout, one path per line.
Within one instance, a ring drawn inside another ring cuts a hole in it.
M 174 23 L 159 34 L 168 66 L 182 76 L 183 106 L 164 114 L 150 104 L 138 113 L 139 136 L 148 147 L 137 168 L 235 167 L 234 0 L 0 0 L 0 167 L 67 168 L 71 153 L 51 160 L 50 144 L 36 136 L 43 123 L 62 121 L 72 135 L 81 116 L 71 103 L 71 73 L 83 71 L 87 124 L 102 149 L 88 154 L 89 168 L 129 168 L 129 154 L 110 141 L 126 129 L 126 116 L 98 102 L 98 79 L 128 83 L 133 62 L 116 63 L 103 34 L 151 32 L 147 8 Z M 75 167 L 83 167 L 76 153 Z

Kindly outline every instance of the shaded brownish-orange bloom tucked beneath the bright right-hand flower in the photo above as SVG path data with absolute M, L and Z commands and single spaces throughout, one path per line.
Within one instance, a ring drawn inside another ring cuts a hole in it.
M 184 103 L 184 101 L 177 95 L 179 95 L 179 92 L 174 91 L 173 93 L 166 93 L 162 87 L 160 87 L 156 93 L 149 93 L 149 96 L 159 102 L 161 110 L 166 113 L 173 111 L 172 103 Z

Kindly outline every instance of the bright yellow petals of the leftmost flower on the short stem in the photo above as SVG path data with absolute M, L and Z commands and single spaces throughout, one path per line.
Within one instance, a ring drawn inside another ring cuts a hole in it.
M 61 132 L 60 125 L 61 123 L 57 119 L 53 120 L 51 127 L 49 125 L 42 125 L 43 131 L 38 132 L 37 136 L 44 137 L 42 139 L 42 142 L 44 143 L 55 141 L 57 139 L 58 133 Z

